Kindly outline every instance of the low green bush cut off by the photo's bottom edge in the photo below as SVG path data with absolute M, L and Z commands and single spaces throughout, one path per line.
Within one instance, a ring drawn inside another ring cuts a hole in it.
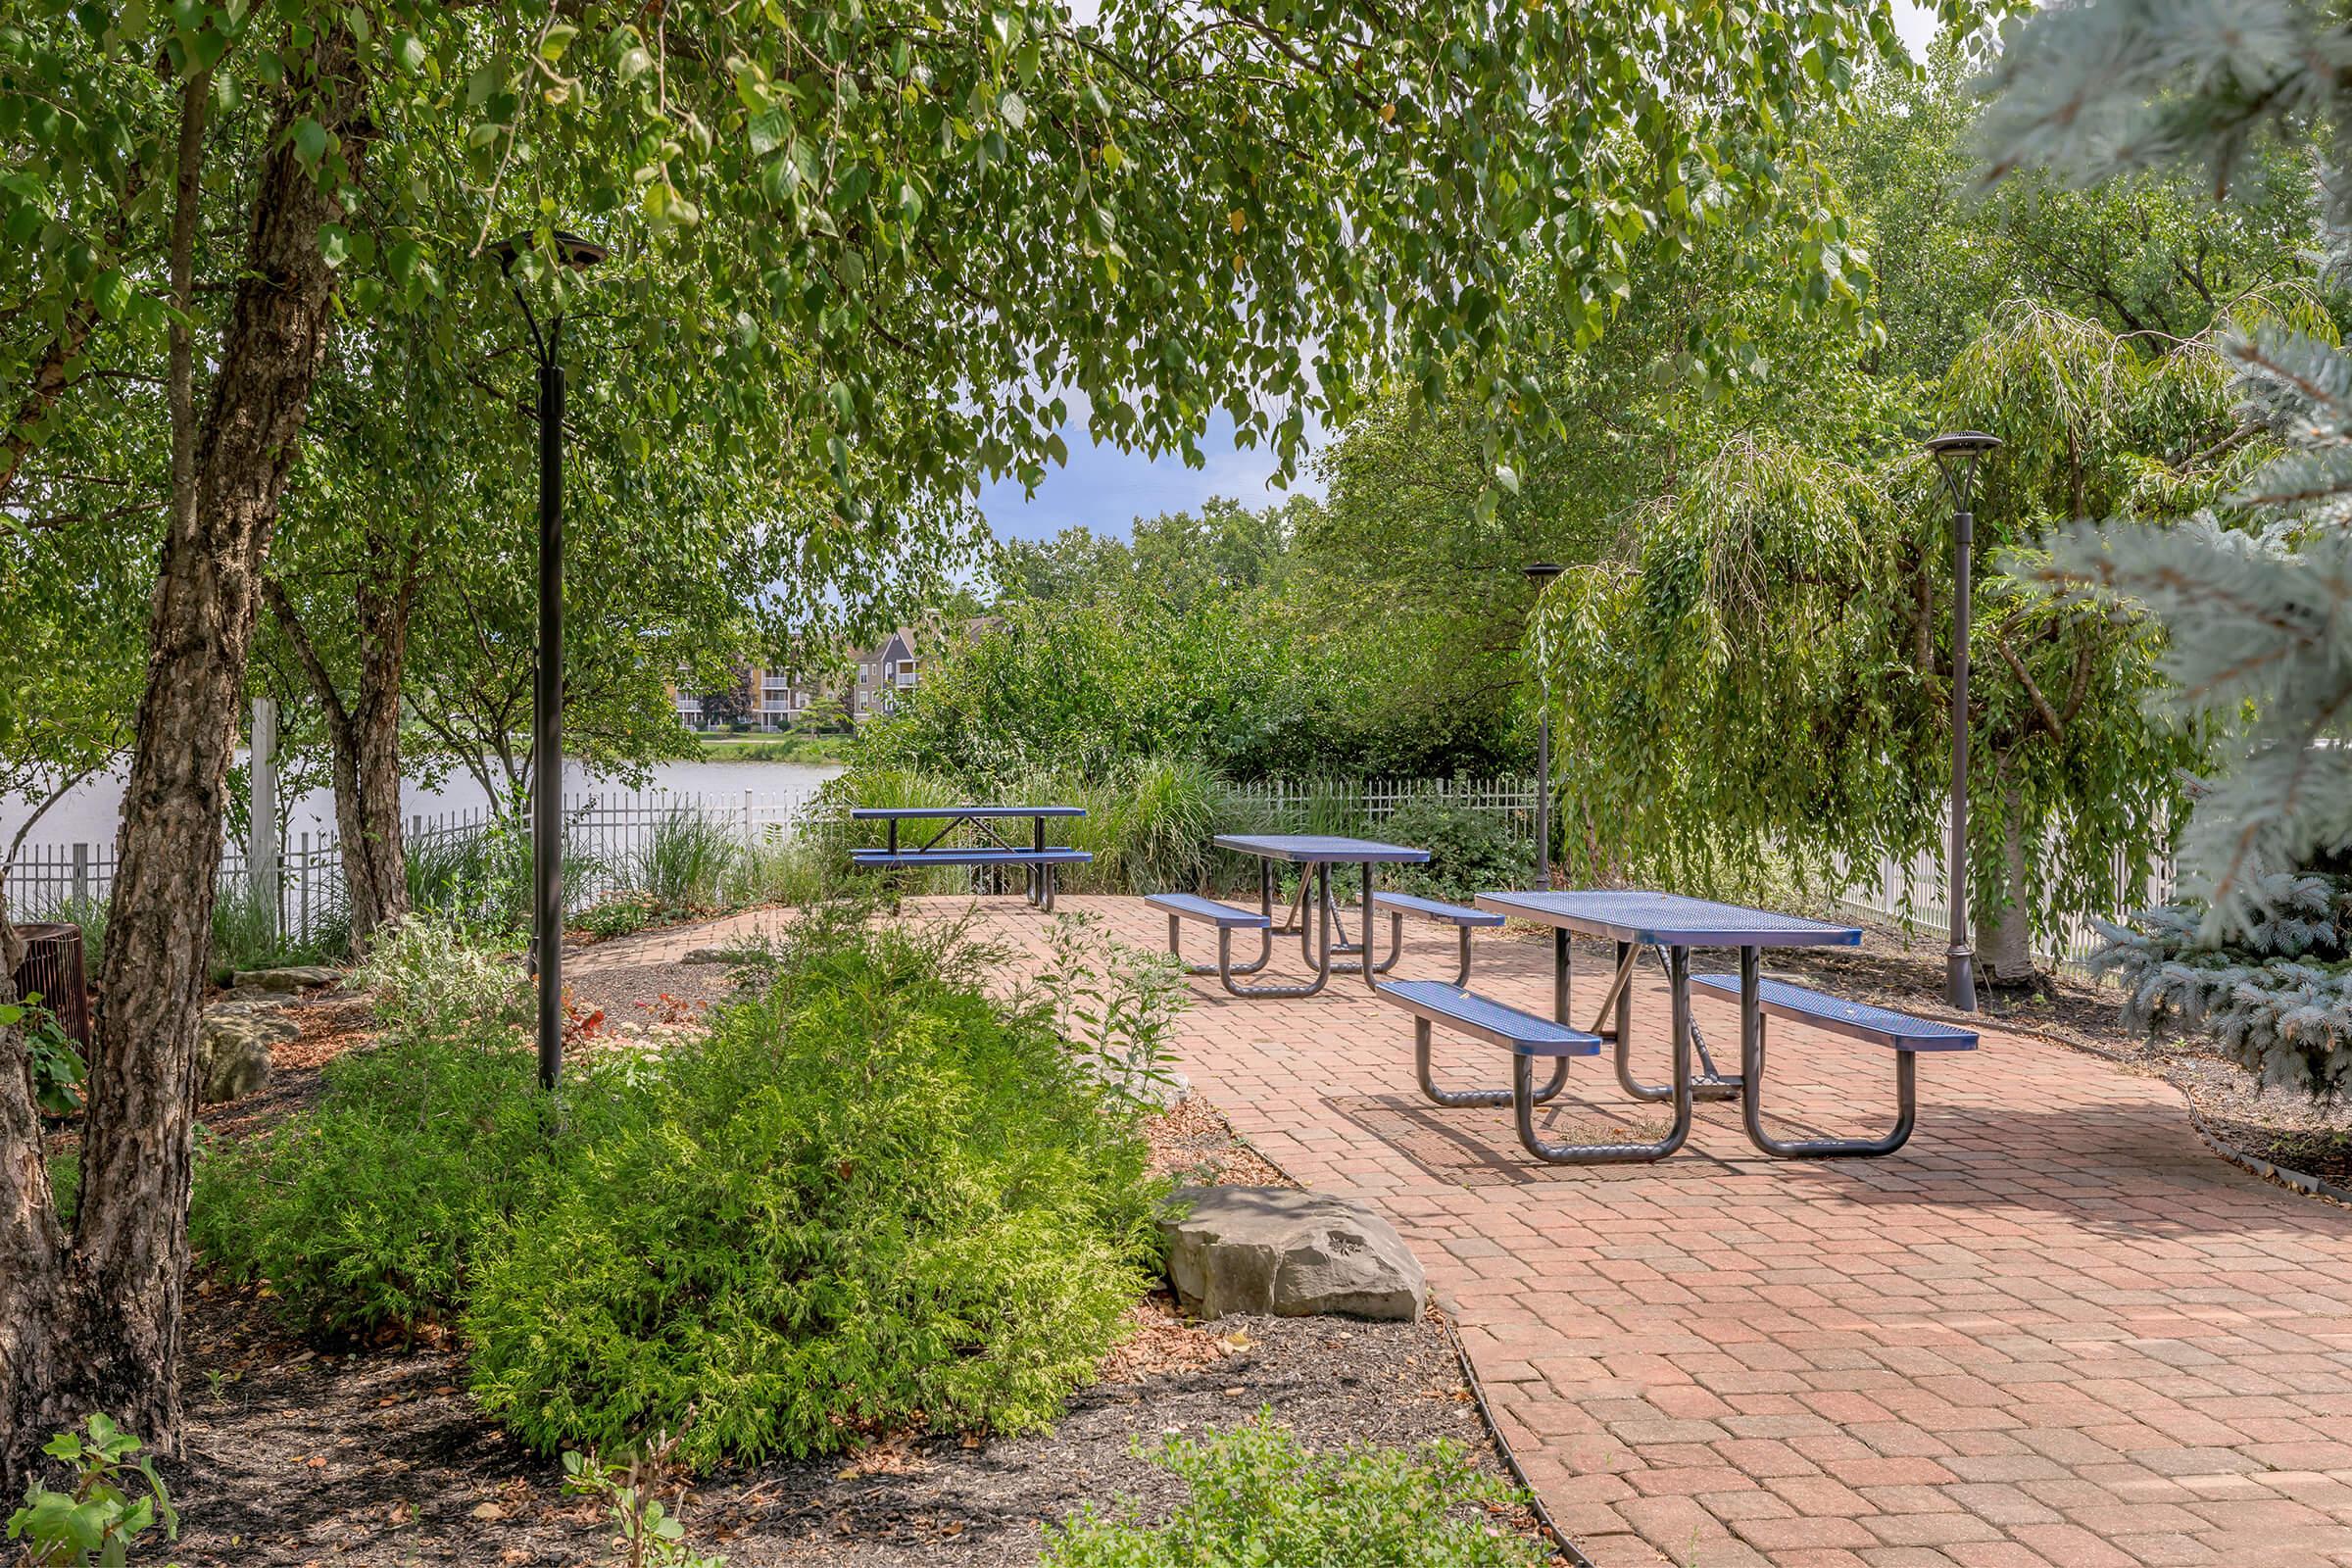
M 1228 1568 L 1308 1563 L 1338 1568 L 1536 1568 L 1534 1542 L 1496 1523 L 1503 1481 L 1470 1469 L 1446 1441 L 1421 1453 L 1350 1446 L 1308 1453 L 1270 1413 L 1202 1441 L 1167 1441 L 1152 1455 L 1183 1476 L 1190 1497 L 1162 1523 L 1134 1509 L 1091 1507 L 1047 1526 L 1040 1568 Z

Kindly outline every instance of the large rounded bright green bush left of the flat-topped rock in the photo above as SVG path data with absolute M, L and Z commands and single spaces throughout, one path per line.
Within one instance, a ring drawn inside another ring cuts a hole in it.
M 948 938 L 802 936 L 644 1072 L 475 1281 L 473 1389 L 536 1448 L 659 1427 L 708 1465 L 1021 1432 L 1143 1288 L 1131 1124 Z

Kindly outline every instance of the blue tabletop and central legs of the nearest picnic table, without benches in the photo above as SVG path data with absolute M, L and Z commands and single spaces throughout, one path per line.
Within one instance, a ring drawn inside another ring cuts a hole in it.
M 1656 1143 L 1545 1143 L 1531 1117 L 1529 1095 L 1517 1095 L 1519 1143 L 1531 1154 L 1552 1164 L 1621 1164 L 1665 1159 L 1691 1135 L 1693 1100 L 1748 1100 L 1743 1126 L 1748 1138 L 1766 1154 L 1785 1154 L 1762 1124 L 1764 1086 L 1764 1009 L 1759 997 L 1759 957 L 1764 947 L 1856 947 L 1863 933 L 1853 926 L 1832 926 L 1797 914 L 1750 910 L 1708 898 L 1684 898 L 1682 893 L 1606 891 L 1606 893 L 1479 893 L 1475 905 L 1496 914 L 1510 914 L 1552 929 L 1552 1018 L 1571 1023 L 1573 957 L 1571 936 L 1597 936 L 1616 943 L 1616 973 L 1595 1013 L 1592 1032 L 1616 1046 L 1618 1086 L 1637 1100 L 1672 1103 L 1675 1124 Z M 1642 947 L 1653 947 L 1665 961 L 1665 985 L 1672 1009 L 1672 1063 L 1670 1084 L 1642 1084 L 1632 1077 L 1632 971 Z M 1717 1072 L 1712 1060 L 1705 1074 L 1691 1072 L 1691 1053 L 1698 1030 L 1691 1023 L 1691 950 L 1738 947 L 1740 954 L 1740 1072 Z M 1613 1013 L 1613 1016 L 1611 1016 Z M 1573 1025 L 1571 1025 L 1573 1027 Z M 1515 1086 L 1529 1077 L 1522 1058 L 1512 1067 Z M 1757 1086 L 1748 1095 L 1748 1084 Z M 1811 1150 L 1809 1150 L 1811 1152 Z M 1832 1147 L 1820 1152 L 1863 1154 L 1865 1145 Z

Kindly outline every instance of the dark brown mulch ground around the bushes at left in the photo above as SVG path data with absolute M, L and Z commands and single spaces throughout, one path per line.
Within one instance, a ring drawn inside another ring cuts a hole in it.
M 661 964 L 581 976 L 574 1004 L 609 1023 L 689 1025 L 727 994 L 724 966 Z M 652 1004 L 652 1006 L 644 1006 Z M 299 1006 L 270 1086 L 205 1112 L 252 1135 L 315 1100 L 318 1067 L 365 1044 L 360 1004 Z M 1145 1124 L 1155 1173 L 1284 1182 L 1197 1095 Z M 1181 1483 L 1143 1458 L 1162 1436 L 1232 1427 L 1261 1408 L 1315 1448 L 1454 1439 L 1494 1474 L 1503 1455 L 1435 1319 L 1221 1319 L 1188 1324 L 1164 1295 L 1051 1432 L 969 1441 L 896 1439 L 858 1455 L 670 1476 L 694 1544 L 736 1568 L 995 1568 L 1035 1563 L 1044 1523 L 1129 1502 L 1160 1516 Z M 329 1563 L 579 1566 L 609 1561 L 612 1526 L 562 1488 L 562 1465 L 508 1441 L 463 1394 L 463 1356 L 416 1342 L 322 1352 L 289 1338 L 266 1300 L 198 1276 L 188 1295 L 188 1455 L 167 1465 L 183 1568 Z M 1512 1514 L 1501 1528 L 1534 1533 Z M 1557 1559 L 1566 1561 L 1566 1559 Z

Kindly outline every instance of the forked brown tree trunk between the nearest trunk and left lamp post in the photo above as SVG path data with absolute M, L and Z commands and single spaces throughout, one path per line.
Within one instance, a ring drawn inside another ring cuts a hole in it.
M 327 715 L 353 952 L 362 952 L 381 926 L 409 912 L 407 844 L 400 835 L 400 670 L 409 654 L 414 585 L 414 559 L 390 592 L 376 590 L 362 574 L 355 590 L 360 691 L 346 705 L 285 590 L 275 581 L 263 583 L 270 614 L 287 630 Z

